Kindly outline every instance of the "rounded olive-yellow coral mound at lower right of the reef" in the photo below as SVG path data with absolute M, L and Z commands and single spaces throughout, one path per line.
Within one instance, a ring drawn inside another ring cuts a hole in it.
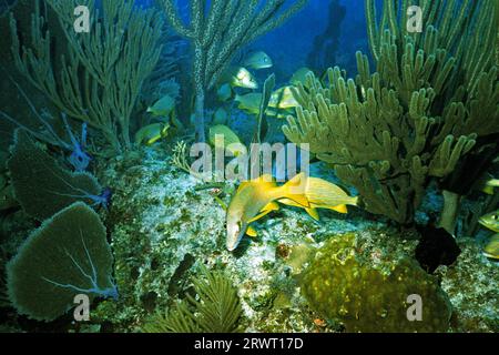
M 446 332 L 450 303 L 428 275 L 408 257 L 373 265 L 355 234 L 337 235 L 304 271 L 302 292 L 310 306 L 347 332 Z M 422 300 L 421 318 L 410 321 L 409 295 Z

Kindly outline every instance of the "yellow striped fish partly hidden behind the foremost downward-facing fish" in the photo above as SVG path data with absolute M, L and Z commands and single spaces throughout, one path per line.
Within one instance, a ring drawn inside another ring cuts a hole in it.
M 306 178 L 305 173 L 299 173 L 296 176 L 305 181 L 305 196 L 309 203 L 309 207 L 306 207 L 305 211 L 316 221 L 319 220 L 317 209 L 329 209 L 339 213 L 347 213 L 346 205 L 358 205 L 358 196 L 349 196 L 334 183 L 318 178 Z M 289 199 L 281 199 L 278 202 L 291 206 L 303 207 Z

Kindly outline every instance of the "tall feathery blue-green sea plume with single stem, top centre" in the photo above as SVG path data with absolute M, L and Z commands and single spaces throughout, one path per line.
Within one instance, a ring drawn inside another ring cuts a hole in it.
M 261 7 L 253 0 L 191 0 L 191 21 L 185 24 L 174 1 L 163 0 L 166 18 L 194 47 L 194 91 L 196 134 L 205 141 L 205 95 L 217 82 L 234 55 L 257 37 L 283 24 L 307 0 L 297 0 L 285 9 L 284 0 L 266 0 Z

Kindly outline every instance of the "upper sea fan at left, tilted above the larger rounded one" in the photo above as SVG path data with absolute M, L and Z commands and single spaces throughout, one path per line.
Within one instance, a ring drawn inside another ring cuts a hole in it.
M 77 201 L 106 206 L 108 196 L 93 175 L 62 169 L 24 131 L 18 130 L 14 141 L 8 168 L 14 196 L 26 213 L 43 221 Z

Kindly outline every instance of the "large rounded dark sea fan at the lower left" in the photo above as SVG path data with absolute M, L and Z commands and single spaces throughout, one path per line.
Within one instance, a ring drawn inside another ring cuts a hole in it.
M 118 297 L 112 263 L 99 215 L 77 202 L 45 221 L 7 264 L 9 300 L 20 314 L 52 321 L 77 294 Z

